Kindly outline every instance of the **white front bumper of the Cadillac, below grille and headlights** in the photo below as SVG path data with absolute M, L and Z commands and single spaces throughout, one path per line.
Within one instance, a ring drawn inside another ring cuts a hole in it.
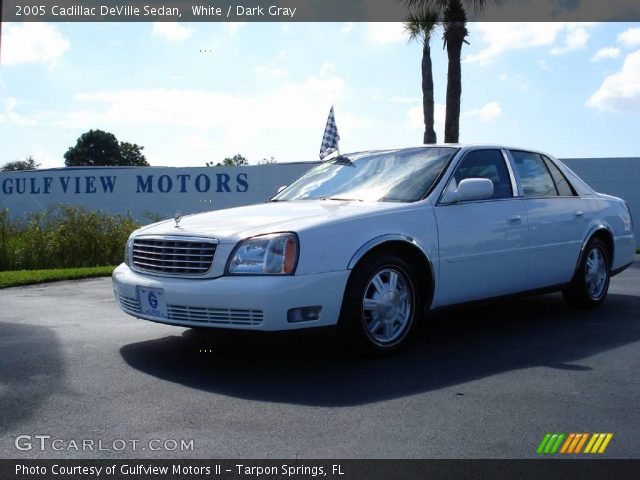
M 112 280 L 120 308 L 138 318 L 186 327 L 280 331 L 335 325 L 349 273 L 184 279 L 142 275 L 123 263 Z M 164 293 L 167 318 L 140 312 L 138 288 Z M 312 306 L 322 307 L 318 320 L 287 321 L 290 309 Z

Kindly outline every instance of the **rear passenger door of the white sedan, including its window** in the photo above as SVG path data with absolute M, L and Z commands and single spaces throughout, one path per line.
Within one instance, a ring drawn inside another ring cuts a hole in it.
M 529 219 L 526 287 L 536 289 L 569 282 L 590 207 L 549 158 L 521 150 L 509 153 Z

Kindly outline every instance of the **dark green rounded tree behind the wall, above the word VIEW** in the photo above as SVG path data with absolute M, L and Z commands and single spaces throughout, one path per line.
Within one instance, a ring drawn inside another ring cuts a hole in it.
M 89 130 L 64 154 L 64 164 L 67 167 L 148 166 L 143 148 L 135 143 L 118 143 L 113 133 Z

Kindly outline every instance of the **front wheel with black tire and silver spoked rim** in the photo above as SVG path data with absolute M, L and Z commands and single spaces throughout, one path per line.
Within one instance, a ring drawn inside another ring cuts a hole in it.
M 383 355 L 398 350 L 408 338 L 422 298 L 418 275 L 403 257 L 372 255 L 351 273 L 338 334 L 349 349 Z

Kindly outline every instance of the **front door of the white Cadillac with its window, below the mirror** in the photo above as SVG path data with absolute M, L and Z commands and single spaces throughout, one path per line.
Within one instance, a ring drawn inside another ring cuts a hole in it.
M 488 178 L 492 198 L 434 207 L 439 239 L 438 306 L 521 291 L 527 276 L 527 215 L 506 154 L 468 152 L 447 189 L 465 178 Z

